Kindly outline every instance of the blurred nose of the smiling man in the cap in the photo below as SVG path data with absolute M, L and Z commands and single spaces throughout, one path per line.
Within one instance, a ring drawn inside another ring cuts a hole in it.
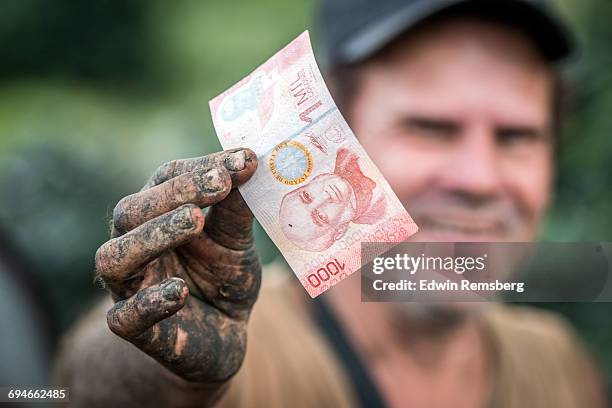
M 495 133 L 486 126 L 461 135 L 441 175 L 447 190 L 475 199 L 493 198 L 502 187 Z

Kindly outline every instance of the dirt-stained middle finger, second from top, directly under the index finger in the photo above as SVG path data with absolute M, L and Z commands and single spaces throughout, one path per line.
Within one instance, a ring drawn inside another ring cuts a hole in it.
M 208 207 L 223 200 L 231 189 L 232 180 L 224 167 L 202 168 L 181 174 L 119 201 L 113 211 L 113 236 L 184 204 Z

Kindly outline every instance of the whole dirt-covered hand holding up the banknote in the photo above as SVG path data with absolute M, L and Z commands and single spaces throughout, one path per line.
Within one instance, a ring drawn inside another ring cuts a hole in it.
M 256 167 L 248 149 L 162 165 L 117 204 L 96 253 L 110 329 L 188 381 L 223 382 L 244 358 L 261 266 L 235 187 Z

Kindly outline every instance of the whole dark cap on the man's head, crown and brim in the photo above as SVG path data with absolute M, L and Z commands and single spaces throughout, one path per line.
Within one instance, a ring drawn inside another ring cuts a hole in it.
M 460 13 L 520 27 L 551 62 L 573 37 L 547 0 L 320 0 L 319 46 L 327 66 L 355 64 L 428 19 Z

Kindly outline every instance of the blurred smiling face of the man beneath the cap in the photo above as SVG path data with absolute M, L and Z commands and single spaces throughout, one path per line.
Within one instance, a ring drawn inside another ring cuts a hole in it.
M 454 20 L 358 72 L 348 117 L 421 241 L 529 241 L 551 194 L 550 68 L 520 33 Z

